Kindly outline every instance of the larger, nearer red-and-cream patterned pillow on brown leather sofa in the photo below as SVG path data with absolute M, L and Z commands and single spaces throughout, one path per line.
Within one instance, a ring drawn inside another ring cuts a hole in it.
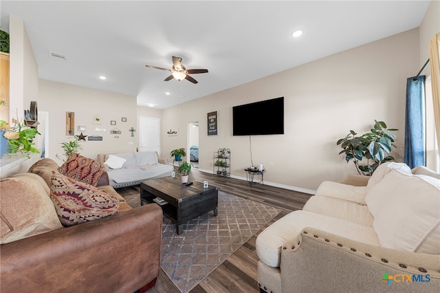
M 52 173 L 50 198 L 64 226 L 93 221 L 119 212 L 118 199 L 61 173 Z

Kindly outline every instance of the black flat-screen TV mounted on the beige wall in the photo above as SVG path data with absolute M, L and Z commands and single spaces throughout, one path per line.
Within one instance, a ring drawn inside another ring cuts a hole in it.
M 284 134 L 284 97 L 232 107 L 232 135 Z

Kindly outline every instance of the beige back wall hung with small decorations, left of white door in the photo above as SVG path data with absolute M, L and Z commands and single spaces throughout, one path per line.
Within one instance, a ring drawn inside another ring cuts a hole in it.
M 86 127 L 84 135 L 102 136 L 102 141 L 89 141 L 87 138 L 82 141 L 81 155 L 96 158 L 98 153 L 136 151 L 137 135 L 131 138 L 129 132 L 131 127 L 137 129 L 134 97 L 40 80 L 39 109 L 49 112 L 49 158 L 56 160 L 57 154 L 64 158 L 61 142 L 72 138 L 65 134 L 66 111 L 75 113 L 75 135 L 80 134 L 78 125 L 83 125 Z M 100 115 L 102 124 L 93 124 L 95 114 Z M 122 122 L 122 117 L 126 118 L 126 122 Z M 116 125 L 111 125 L 111 120 L 115 120 Z M 111 129 L 119 129 L 122 133 L 111 134 Z

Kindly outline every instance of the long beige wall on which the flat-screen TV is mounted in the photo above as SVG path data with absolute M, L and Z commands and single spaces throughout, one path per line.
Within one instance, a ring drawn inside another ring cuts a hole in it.
M 340 52 L 252 83 L 234 87 L 184 105 L 165 109 L 164 129 L 179 127 L 179 135 L 164 137 L 164 153 L 186 145 L 187 122 L 200 122 L 199 166 L 212 171 L 212 152 L 231 149 L 234 177 L 245 177 L 251 165 L 250 138 L 232 136 L 232 107 L 285 97 L 285 135 L 252 136 L 252 161 L 263 164 L 265 182 L 314 191 L 323 180 L 341 180 L 354 173 L 336 141 L 353 129 L 369 131 L 383 120 L 397 133 L 401 160 L 404 142 L 406 78 L 419 69 L 418 29 Z M 206 114 L 219 113 L 219 135 L 208 136 Z M 256 116 L 256 123 L 264 121 Z

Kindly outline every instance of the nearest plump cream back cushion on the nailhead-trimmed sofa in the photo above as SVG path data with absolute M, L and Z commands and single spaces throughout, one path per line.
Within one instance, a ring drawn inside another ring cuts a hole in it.
M 440 180 L 392 170 L 366 195 L 382 246 L 440 254 Z

